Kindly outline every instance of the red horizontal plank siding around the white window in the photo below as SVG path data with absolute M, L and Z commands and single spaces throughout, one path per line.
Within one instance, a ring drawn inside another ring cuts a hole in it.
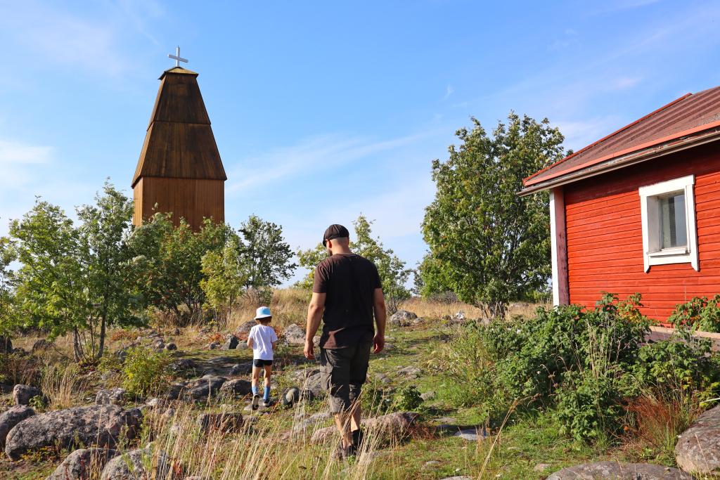
M 694 174 L 700 271 L 690 263 L 644 272 L 641 186 Z M 708 144 L 564 187 L 570 302 L 600 292 L 642 294 L 643 313 L 665 321 L 676 304 L 720 293 L 720 145 Z

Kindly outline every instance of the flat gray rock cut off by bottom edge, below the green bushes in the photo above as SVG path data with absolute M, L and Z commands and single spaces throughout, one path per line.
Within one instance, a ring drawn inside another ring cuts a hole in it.
M 650 463 L 594 462 L 556 471 L 547 480 L 693 480 L 678 468 Z

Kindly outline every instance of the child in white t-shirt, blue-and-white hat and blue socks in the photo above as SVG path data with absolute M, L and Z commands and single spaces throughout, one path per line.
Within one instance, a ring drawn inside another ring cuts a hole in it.
M 272 315 L 269 307 L 260 307 L 255 314 L 258 325 L 250 329 L 248 334 L 248 347 L 253 349 L 253 410 L 258 409 L 260 395 L 258 394 L 258 380 L 260 371 L 265 370 L 265 391 L 263 407 L 270 406 L 270 376 L 272 374 L 272 353 L 277 343 L 275 330 L 270 326 Z

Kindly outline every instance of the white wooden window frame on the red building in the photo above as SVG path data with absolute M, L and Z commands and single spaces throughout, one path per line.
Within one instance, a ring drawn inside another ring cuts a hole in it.
M 700 271 L 698 263 L 698 234 L 695 221 L 695 194 L 693 186 L 695 176 L 688 175 L 659 184 L 642 186 L 640 194 L 640 213 L 642 217 L 642 251 L 645 271 L 653 265 L 669 263 L 690 263 Z M 685 220 L 688 229 L 688 246 L 660 249 L 660 217 L 658 215 L 658 197 L 675 192 L 685 194 Z

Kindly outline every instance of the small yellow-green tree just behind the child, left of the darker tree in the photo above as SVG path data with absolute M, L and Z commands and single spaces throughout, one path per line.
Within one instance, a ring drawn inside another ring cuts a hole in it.
M 247 283 L 248 268 L 240 259 L 239 244 L 238 236 L 230 235 L 222 251 L 211 250 L 202 257 L 205 278 L 200 281 L 200 287 L 218 325 L 227 322 Z

